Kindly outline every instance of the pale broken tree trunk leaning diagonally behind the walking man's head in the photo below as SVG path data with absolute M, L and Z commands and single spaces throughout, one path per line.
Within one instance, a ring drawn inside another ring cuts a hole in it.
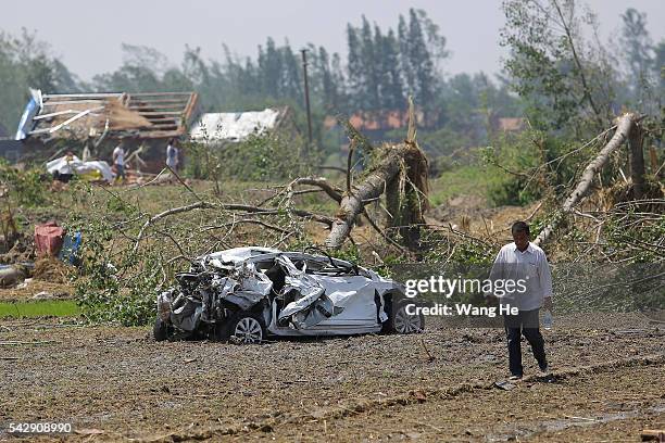
M 598 174 L 603 168 L 605 163 L 607 163 L 610 155 L 622 144 L 624 144 L 624 142 L 631 136 L 631 132 L 637 128 L 638 122 L 639 117 L 636 114 L 624 114 L 619 118 L 616 132 L 614 132 L 612 139 L 607 142 L 607 144 L 605 144 L 598 156 L 593 159 L 591 163 L 589 163 L 582 173 L 581 179 L 577 183 L 577 187 L 575 187 L 573 193 L 570 193 L 570 195 L 568 195 L 564 202 L 562 206 L 562 212 L 564 215 L 570 213 L 573 208 L 587 195 L 595 174 Z M 534 243 L 539 245 L 547 241 L 557 225 L 557 221 L 553 221 L 545 226 L 545 228 L 538 235 L 536 240 L 534 240 Z

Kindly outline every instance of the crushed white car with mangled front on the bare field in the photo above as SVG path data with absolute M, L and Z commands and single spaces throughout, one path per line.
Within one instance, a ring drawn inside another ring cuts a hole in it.
M 154 339 L 419 332 L 403 287 L 328 255 L 237 248 L 196 260 L 158 296 Z

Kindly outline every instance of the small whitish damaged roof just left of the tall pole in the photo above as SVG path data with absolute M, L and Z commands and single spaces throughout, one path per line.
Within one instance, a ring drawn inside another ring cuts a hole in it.
M 201 142 L 242 141 L 252 134 L 263 134 L 281 125 L 288 107 L 263 111 L 206 113 L 191 128 L 189 136 Z

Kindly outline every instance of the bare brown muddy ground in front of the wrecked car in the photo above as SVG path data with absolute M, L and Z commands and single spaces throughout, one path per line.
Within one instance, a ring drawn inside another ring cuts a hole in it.
M 0 324 L 0 426 L 71 422 L 53 441 L 639 441 L 665 429 L 665 325 L 556 318 L 555 382 L 510 391 L 499 329 L 415 336 L 155 343 L 141 328 Z M 425 347 L 435 357 L 429 360 Z M 0 440 L 16 439 L 0 431 Z

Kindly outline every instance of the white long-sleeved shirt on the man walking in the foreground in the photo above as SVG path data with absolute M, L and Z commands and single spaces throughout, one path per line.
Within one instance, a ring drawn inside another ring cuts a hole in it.
M 501 304 L 516 306 L 519 311 L 542 307 L 544 298 L 552 296 L 552 274 L 544 251 L 529 242 L 524 252 L 515 243 L 501 248 L 490 273 L 490 279 L 522 280 L 513 291 L 500 296 Z M 526 288 L 526 290 L 523 290 Z M 499 294 L 497 294 L 499 295 Z

